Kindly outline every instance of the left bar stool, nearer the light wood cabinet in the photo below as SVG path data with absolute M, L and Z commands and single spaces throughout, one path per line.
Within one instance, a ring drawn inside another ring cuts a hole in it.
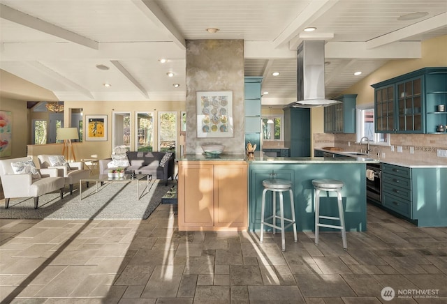
M 295 206 L 293 204 L 293 192 L 292 192 L 292 182 L 287 181 L 285 179 L 265 179 L 263 181 L 263 201 L 261 205 L 261 237 L 259 238 L 259 241 L 263 242 L 263 236 L 264 236 L 264 225 L 267 225 L 269 227 L 273 228 L 273 234 L 276 233 L 276 229 L 281 230 L 281 243 L 282 243 L 282 251 L 286 251 L 286 239 L 284 236 L 284 232 L 286 231 L 286 228 L 293 225 L 293 236 L 295 237 L 295 242 L 298 241 L 298 238 L 296 236 L 296 222 L 295 222 Z M 269 216 L 268 218 L 264 218 L 265 215 L 265 194 L 268 191 L 272 191 L 273 195 L 273 214 L 272 216 Z M 291 196 L 291 211 L 292 211 L 292 218 L 284 218 L 284 202 L 283 202 L 283 195 L 282 192 L 288 191 L 289 195 Z M 277 215 L 277 193 L 279 194 L 279 215 Z M 266 222 L 266 220 L 272 219 L 272 223 Z M 280 220 L 281 226 L 277 226 L 277 219 Z M 284 226 L 284 221 L 290 222 L 288 225 Z

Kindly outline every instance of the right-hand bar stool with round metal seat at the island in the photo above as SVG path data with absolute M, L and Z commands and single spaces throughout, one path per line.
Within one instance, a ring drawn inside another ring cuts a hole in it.
M 319 227 L 328 227 L 334 229 L 342 230 L 342 239 L 343 239 L 343 249 L 348 250 L 348 244 L 346 243 L 346 228 L 344 226 L 344 213 L 343 213 L 343 202 L 342 202 L 342 192 L 340 192 L 344 186 L 342 181 L 338 181 L 336 179 L 314 179 L 312 181 L 312 185 L 314 185 L 314 189 L 316 190 L 315 194 L 315 245 L 318 245 L 318 230 Z M 337 202 L 338 202 L 338 213 L 339 217 L 335 218 L 333 216 L 324 216 L 320 215 L 320 191 L 327 192 L 337 192 Z M 340 225 L 327 225 L 321 224 L 320 219 L 327 220 L 339 220 Z

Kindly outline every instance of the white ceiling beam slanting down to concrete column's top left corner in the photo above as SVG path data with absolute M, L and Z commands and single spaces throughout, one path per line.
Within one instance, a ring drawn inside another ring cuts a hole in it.
M 173 42 L 180 47 L 181 50 L 186 50 L 186 41 L 182 34 L 174 24 L 170 22 L 169 18 L 166 17 L 163 10 L 156 5 L 154 0 L 132 0 L 132 2 L 143 14 L 145 14 L 146 17 L 149 18 L 149 20 L 154 22 L 156 26 L 159 26 L 159 29 L 161 29 L 163 33 L 166 33 L 166 35 L 172 38 Z

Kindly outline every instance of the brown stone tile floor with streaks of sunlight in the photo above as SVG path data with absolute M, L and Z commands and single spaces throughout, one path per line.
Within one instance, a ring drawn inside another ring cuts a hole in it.
M 0 220 L 2 303 L 447 303 L 447 228 L 368 206 L 368 231 L 182 232 L 148 220 Z M 392 301 L 381 298 L 393 287 Z M 398 291 L 411 295 L 397 298 Z M 423 297 L 430 292 L 437 298 Z

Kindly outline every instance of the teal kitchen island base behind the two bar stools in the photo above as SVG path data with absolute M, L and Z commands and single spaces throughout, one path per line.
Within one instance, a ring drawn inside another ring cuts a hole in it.
M 346 231 L 366 231 L 366 165 L 365 163 L 291 163 L 274 161 L 272 164 L 252 162 L 249 165 L 249 231 L 261 229 L 263 180 L 288 179 L 293 183 L 295 217 L 298 231 L 314 231 L 314 178 L 333 178 L 344 181 L 342 189 Z M 337 216 L 335 192 L 321 192 L 321 215 Z M 272 215 L 272 192 L 267 193 L 266 216 Z M 277 199 L 277 202 L 279 200 Z M 279 204 L 277 203 L 279 209 Z M 284 192 L 284 216 L 291 218 L 290 199 Z M 328 223 L 331 221 L 328 220 Z M 333 221 L 332 221 L 333 223 Z M 338 225 L 338 222 L 337 222 Z M 270 228 L 269 228 L 270 229 Z M 271 231 L 271 229 L 266 231 Z M 288 230 L 291 231 L 292 227 Z M 322 229 L 322 231 L 339 231 Z

